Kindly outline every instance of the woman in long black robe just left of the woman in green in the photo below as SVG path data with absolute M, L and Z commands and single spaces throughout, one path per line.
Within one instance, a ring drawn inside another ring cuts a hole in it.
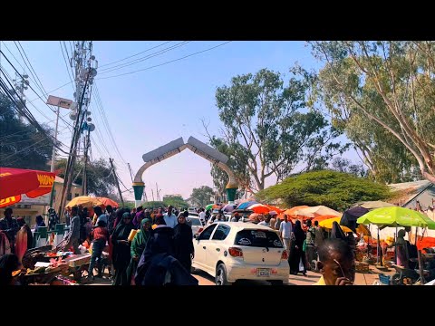
M 122 215 L 122 221 L 116 226 L 113 235 L 111 235 L 111 243 L 113 244 L 112 260 L 115 268 L 113 285 L 130 284 L 127 280 L 127 267 L 131 261 L 128 237 L 132 229 L 134 229 L 134 226 L 131 223 L 131 214 L 125 212 Z

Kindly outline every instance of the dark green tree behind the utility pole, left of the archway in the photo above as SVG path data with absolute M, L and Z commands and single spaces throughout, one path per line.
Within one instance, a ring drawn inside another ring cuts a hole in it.
M 73 182 L 82 186 L 83 182 L 83 160 L 76 162 L 73 173 Z M 55 169 L 59 170 L 59 177 L 64 177 L 66 159 L 56 161 Z M 103 158 L 88 161 L 86 168 L 86 181 L 88 194 L 96 197 L 118 198 L 115 179 L 111 173 L 111 165 Z M 121 200 L 118 198 L 118 202 Z

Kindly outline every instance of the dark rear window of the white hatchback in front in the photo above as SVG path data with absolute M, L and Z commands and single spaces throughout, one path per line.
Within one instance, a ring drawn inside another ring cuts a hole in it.
M 279 236 L 275 232 L 263 229 L 245 229 L 237 232 L 234 244 L 270 248 L 283 247 Z

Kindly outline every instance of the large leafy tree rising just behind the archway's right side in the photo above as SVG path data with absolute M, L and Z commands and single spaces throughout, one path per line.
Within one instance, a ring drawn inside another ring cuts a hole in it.
M 309 86 L 295 73 L 285 84 L 279 72 L 262 69 L 254 75 L 238 75 L 229 86 L 218 87 L 223 137 L 209 137 L 209 142 L 217 148 L 227 147 L 233 162 L 243 165 L 236 169 L 239 177 L 246 176 L 247 168 L 249 182 L 244 186 L 249 191 L 264 189 L 266 178 L 272 175 L 278 181 L 284 179 L 302 162 L 306 170 L 323 168 L 326 161 L 345 150 L 333 142 L 339 132 L 323 115 L 306 110 Z

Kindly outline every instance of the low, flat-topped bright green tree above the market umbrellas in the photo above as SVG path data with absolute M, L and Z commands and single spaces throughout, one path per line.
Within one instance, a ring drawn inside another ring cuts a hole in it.
M 287 177 L 256 197 L 267 201 L 281 198 L 287 206 L 324 205 L 343 211 L 358 201 L 386 199 L 391 193 L 389 187 L 368 178 L 323 170 Z

